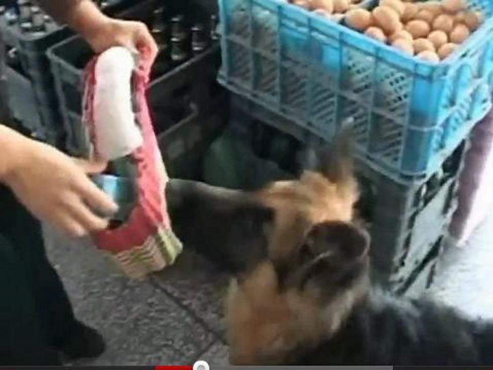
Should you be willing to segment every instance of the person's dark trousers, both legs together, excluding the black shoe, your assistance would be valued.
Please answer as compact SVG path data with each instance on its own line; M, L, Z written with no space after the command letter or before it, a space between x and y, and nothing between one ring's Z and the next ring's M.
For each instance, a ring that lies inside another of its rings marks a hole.
M59 364L77 324L39 221L0 185L0 365Z

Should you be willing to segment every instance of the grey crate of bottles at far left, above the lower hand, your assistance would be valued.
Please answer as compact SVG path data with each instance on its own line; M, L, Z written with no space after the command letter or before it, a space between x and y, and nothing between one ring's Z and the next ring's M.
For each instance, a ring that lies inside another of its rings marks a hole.
M62 131L57 126L60 119L45 51L67 37L68 28L45 17L30 3L19 1L13 7L0 8L0 32L5 46L12 118L33 137L58 144Z

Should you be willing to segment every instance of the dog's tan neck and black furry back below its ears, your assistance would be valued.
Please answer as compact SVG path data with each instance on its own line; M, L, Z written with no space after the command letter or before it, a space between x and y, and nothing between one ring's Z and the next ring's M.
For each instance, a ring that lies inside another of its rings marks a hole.
M431 301L367 290L367 283L362 281L359 293L345 292L323 309L299 293L269 295L273 286L233 287L228 306L231 363L492 363L493 325L470 321Z

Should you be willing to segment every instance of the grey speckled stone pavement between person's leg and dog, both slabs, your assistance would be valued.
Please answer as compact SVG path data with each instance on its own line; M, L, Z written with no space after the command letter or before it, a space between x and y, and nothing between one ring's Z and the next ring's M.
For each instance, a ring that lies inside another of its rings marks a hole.
M136 282L88 241L70 241L47 228L45 238L77 317L107 340L101 357L82 363L227 361L221 297L228 279L209 262L184 253L175 266Z

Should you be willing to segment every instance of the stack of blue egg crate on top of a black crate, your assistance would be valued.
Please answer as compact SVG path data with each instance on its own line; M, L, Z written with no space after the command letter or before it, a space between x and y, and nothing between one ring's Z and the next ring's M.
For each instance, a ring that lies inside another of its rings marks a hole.
M282 0L219 0L218 79L243 115L307 150L352 127L375 277L397 292L429 283L467 137L491 108L493 3L467 5L484 22L436 62L347 27L345 15Z

